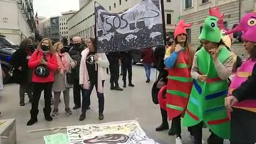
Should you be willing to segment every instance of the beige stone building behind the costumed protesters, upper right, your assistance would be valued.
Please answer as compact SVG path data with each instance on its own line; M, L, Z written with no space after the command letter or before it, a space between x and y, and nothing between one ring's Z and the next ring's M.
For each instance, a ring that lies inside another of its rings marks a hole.
M198 37L203 28L204 20L209 16L209 7L219 7L224 13L224 26L231 29L239 23L243 14L254 10L255 0L180 0L181 19L192 23L192 28L187 29L189 41L192 46L197 47L200 41Z

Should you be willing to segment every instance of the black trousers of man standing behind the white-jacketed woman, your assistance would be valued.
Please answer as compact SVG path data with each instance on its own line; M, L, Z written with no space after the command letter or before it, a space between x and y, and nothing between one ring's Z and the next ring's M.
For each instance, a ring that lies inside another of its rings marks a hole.
M81 107L81 92L82 92L82 97L85 95L85 89L82 88L81 85L79 85L79 80L74 80L73 83L73 98L74 98L74 103L75 106ZM91 98L88 99L89 106L91 104Z

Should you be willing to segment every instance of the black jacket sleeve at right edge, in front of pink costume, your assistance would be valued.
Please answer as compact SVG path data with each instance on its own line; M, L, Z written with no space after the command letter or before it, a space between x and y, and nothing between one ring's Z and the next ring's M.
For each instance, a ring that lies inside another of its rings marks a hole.
M234 97L237 98L237 100L243 101L248 99L256 99L255 95L255 89L256 88L256 64L254 65L254 68L252 70L252 76L248 77L248 79L242 83L239 88L235 89L233 91Z

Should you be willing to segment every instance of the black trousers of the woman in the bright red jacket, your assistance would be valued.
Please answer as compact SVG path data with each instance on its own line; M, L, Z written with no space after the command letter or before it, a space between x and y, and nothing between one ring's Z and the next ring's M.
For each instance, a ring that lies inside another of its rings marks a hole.
M50 97L52 95L52 84L53 82L47 83L34 83L33 101L31 104L31 119L37 119L38 115L38 103L41 97L41 92L44 91L44 116L50 116Z

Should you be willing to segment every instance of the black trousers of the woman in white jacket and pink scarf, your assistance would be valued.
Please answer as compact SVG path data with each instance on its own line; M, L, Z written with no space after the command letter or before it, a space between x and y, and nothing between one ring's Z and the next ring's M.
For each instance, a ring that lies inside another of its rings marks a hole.
M102 86L104 86L105 80L102 80ZM91 92L93 91L93 88L95 86L96 91L97 91L97 97L98 97L98 103L99 103L99 113L103 113L104 110L104 94L100 94L98 92L98 83L97 80L93 80L90 82L91 86L90 89L84 89L85 94L82 96L82 113L86 112L87 107L90 106L90 97L91 97Z

